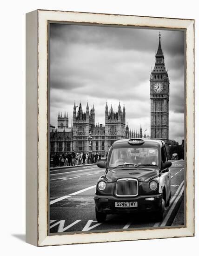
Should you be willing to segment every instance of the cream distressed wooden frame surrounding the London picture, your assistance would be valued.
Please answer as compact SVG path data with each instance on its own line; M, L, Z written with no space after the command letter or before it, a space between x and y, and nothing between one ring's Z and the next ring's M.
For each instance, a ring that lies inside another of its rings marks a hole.
M48 22L186 30L186 226L48 236ZM194 20L35 10L26 16L26 241L35 246L194 236Z

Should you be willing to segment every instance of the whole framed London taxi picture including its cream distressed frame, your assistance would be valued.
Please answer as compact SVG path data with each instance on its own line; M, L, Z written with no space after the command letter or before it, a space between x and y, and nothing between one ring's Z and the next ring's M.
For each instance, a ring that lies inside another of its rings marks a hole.
M26 15L26 241L194 236L194 20Z

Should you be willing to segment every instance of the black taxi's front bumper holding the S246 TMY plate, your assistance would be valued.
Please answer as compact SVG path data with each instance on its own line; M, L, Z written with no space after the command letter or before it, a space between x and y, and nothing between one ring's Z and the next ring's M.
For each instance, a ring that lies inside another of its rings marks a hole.
M158 195L139 195L135 197L116 197L114 195L95 195L95 206L98 212L106 214L121 214L132 212L155 212L161 208L163 194ZM148 201L147 198L154 198ZM137 207L118 208L115 202L137 202Z

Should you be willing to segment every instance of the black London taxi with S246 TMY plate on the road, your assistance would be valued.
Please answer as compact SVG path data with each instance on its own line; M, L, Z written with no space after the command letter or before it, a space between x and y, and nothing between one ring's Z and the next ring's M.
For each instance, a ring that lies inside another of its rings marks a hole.
M161 140L124 139L108 151L106 168L96 185L95 213L98 222L107 214L154 212L158 221L171 199L171 174L166 145Z

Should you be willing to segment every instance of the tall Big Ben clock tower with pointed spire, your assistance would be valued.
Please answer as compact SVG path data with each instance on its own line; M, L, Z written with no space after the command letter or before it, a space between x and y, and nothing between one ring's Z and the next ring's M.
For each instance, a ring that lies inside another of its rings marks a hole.
M150 77L151 138L165 141L169 152L169 77L165 68L159 33L155 67Z

